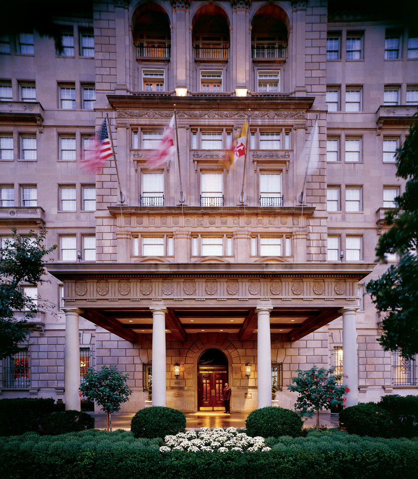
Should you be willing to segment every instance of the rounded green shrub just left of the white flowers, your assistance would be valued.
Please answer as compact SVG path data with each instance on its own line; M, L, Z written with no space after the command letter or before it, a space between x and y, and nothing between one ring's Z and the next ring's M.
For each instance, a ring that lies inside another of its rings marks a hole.
M183 432L186 416L171 407L152 406L138 411L132 418L131 431L135 438L163 438Z

